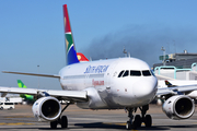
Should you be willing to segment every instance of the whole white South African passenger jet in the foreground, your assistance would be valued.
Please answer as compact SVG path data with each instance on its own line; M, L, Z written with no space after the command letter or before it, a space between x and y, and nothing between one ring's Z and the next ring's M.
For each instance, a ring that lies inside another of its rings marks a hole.
M38 97L32 110L38 121L49 121L50 128L68 127L67 116L62 112L71 104L83 109L125 109L129 120L126 129L137 129L144 122L152 126L148 115L149 104L157 95L172 95L163 104L163 110L171 119L182 120L193 116L194 100L181 93L197 90L187 87L158 88L158 80L147 62L131 57L79 62L73 43L67 4L63 4L65 38L67 66L58 74L39 74L3 71L3 73L48 76L59 79L62 91L18 88L0 86L1 96L8 93L28 94ZM61 108L60 100L67 104ZM134 116L139 109L141 115Z

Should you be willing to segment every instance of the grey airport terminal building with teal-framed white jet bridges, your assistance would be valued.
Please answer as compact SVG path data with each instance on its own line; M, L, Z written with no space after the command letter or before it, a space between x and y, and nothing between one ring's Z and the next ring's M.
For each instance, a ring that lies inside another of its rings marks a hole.
M154 73L172 80L197 80L197 53L160 56L163 63L153 64Z

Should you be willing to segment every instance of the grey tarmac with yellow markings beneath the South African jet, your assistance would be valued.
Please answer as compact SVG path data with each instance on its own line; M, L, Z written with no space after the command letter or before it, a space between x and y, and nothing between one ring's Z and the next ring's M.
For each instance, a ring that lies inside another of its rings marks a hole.
M136 114L140 114L137 111ZM136 115L135 114L135 115ZM152 116L152 127L141 128L136 131L196 131L197 114L187 120L171 120L162 111L162 106L150 105L148 111ZM68 129L56 130L69 131L126 131L127 112L119 110L90 110L80 109L70 105L63 112L68 117ZM13 110L0 110L0 130L7 131L48 131L51 130L49 122L38 122L32 112L32 106L15 105Z

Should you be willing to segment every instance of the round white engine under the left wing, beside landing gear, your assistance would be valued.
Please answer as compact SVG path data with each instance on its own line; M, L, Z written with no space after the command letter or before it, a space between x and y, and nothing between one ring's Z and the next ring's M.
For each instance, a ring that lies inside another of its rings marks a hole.
M61 105L55 97L42 97L34 103L32 110L38 121L54 121L61 115Z

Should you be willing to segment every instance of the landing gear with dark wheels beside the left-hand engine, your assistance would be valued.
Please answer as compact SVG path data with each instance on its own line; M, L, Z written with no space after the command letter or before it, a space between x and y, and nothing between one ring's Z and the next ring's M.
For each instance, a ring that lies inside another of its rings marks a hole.
M67 109L67 107L68 107L69 105L70 105L70 103L68 103L68 104L66 105L66 107L61 110L61 114L65 111L65 109ZM58 123L61 124L61 128L62 128L62 129L68 128L68 119L67 119L67 116L61 116L61 118L59 117L58 120L51 121L51 122L50 122L50 128L51 128L51 129L56 129Z

